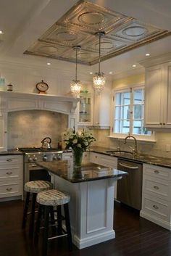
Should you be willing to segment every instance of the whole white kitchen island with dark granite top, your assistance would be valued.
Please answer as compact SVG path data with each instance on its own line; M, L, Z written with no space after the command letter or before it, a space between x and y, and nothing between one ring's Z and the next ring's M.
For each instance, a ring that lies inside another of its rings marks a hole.
M93 163L76 169L61 160L38 165L49 170L56 189L70 194L72 241L79 249L114 239L114 183L127 173Z

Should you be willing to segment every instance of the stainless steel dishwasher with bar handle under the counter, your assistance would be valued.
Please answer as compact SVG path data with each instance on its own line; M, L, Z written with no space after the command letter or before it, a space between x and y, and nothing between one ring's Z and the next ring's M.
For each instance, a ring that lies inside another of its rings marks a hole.
M117 168L128 173L117 181L117 200L141 210L143 165L118 158Z

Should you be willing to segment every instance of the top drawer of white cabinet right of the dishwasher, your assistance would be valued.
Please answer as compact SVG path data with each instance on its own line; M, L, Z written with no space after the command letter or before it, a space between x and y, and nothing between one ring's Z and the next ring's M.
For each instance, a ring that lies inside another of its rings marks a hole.
M143 174L171 181L171 169L143 164Z

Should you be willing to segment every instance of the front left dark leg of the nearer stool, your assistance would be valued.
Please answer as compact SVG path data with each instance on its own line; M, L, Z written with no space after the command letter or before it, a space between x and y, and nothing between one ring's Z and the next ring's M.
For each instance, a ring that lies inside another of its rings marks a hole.
M42 256L47 255L48 231L49 231L49 207L45 206L44 230L43 230L43 241L42 241Z

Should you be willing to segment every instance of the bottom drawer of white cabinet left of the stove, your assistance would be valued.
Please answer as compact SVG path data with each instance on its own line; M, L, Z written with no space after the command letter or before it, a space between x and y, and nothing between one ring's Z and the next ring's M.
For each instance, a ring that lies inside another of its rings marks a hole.
M22 184L20 181L0 183L0 198L22 195Z

